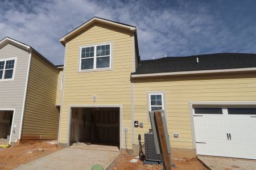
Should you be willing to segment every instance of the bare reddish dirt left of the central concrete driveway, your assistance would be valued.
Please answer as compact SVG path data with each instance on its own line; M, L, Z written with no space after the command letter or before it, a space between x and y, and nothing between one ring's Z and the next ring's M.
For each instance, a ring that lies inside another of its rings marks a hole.
M48 142L28 142L0 149L0 169L13 169L32 160L61 150Z

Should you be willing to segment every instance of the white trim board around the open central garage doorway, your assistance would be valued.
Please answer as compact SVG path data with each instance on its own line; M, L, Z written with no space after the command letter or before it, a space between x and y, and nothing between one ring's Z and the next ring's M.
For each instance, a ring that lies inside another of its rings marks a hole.
M69 105L68 106L68 128L67 128L67 147L70 146L70 133L71 133L71 108L119 108L119 149L121 151L123 145L123 105L115 104L85 104L85 105Z

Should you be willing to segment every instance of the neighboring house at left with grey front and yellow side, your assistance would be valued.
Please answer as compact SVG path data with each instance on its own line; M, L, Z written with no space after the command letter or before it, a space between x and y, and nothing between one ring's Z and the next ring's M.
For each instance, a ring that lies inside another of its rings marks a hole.
M9 143L57 139L59 69L31 46L0 41L0 138Z

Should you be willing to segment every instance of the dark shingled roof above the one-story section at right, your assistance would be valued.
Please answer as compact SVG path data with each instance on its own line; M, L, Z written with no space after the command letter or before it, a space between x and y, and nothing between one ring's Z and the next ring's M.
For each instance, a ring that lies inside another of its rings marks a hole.
M197 62L197 58L198 61ZM244 69L251 68L256 70L256 54L246 53L217 53L203 54L187 57L166 57L150 59L139 62L133 75L158 74L158 73L177 73L188 71L212 71L225 69ZM222 71L225 72L225 71ZM135 76L134 76L135 77Z

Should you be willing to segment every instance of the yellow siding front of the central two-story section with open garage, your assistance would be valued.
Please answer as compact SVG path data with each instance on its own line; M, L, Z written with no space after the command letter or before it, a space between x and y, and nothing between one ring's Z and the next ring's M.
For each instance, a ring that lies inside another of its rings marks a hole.
M122 126L129 128L127 147L131 148L131 82L133 71L132 33L96 23L65 44L64 94L60 143L67 143L69 105L122 105ZM111 42L113 70L77 73L80 46ZM97 95L93 103L92 96ZM122 129L120 129L122 131ZM123 134L123 147L125 134Z

